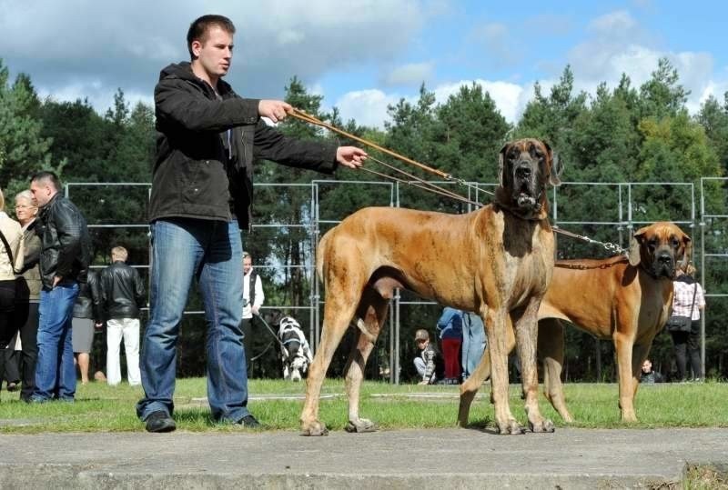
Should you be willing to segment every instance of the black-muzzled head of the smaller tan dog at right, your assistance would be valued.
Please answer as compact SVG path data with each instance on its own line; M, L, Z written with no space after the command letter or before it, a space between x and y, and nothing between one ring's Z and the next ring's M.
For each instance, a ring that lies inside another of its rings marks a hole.
M642 265L652 277L674 279L675 269L687 268L693 254L690 236L673 223L659 222L640 228L632 235L629 259Z

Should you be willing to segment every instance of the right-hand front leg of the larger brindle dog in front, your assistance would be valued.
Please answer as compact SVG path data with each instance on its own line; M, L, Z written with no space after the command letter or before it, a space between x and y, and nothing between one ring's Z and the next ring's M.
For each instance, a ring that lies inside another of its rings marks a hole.
M553 432L551 420L543 418L539 410L539 375L536 362L538 312L541 297L531 297L522 311L511 314L516 330L516 346L521 360L521 385L525 398L526 415L532 432Z

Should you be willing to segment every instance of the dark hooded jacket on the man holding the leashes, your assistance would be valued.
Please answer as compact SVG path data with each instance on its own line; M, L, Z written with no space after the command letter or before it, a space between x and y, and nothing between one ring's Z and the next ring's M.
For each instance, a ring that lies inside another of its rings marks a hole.
M336 169L336 145L284 136L260 120L257 99L239 97L222 80L217 91L220 98L189 63L169 65L159 74L149 221L229 221L236 215L248 227L256 159L329 174Z

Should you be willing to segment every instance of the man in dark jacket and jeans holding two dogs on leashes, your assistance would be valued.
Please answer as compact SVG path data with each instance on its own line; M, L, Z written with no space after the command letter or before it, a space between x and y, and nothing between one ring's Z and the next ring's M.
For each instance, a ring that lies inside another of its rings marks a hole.
M221 422L254 427L239 328L242 241L250 225L253 165L258 158L332 173L361 165L353 146L322 145L282 135L274 123L292 107L243 99L224 81L235 26L221 15L190 25L191 63L163 69L155 88L157 161L152 175L150 319L140 359L145 397L136 414L149 432L175 430L172 397L176 344L187 292L197 276L207 319L207 400Z

